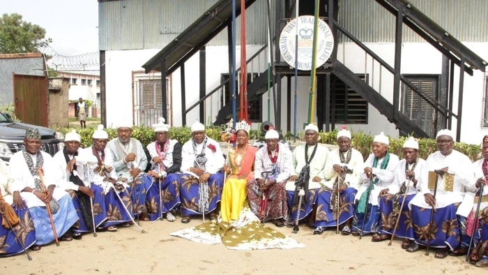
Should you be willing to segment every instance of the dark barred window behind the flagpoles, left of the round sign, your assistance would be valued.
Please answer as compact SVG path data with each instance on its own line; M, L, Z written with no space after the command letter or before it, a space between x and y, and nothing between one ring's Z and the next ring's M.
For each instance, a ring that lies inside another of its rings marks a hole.
M247 85L249 85L252 81L252 77L256 78L258 77L257 73L251 74L247 73ZM222 82L225 80L229 79L229 74L228 73L222 73ZM238 81L236 77L236 89L238 89ZM224 85L222 94L220 95L220 107L224 107L224 105L231 104L231 85L230 81L227 82L227 84ZM249 94L249 91L247 92ZM247 105L247 120L253 121L253 122L261 122L262 118L262 103L263 99L262 96L259 96L259 98L247 98L248 101L251 101L249 105Z

